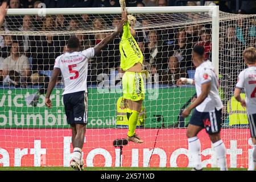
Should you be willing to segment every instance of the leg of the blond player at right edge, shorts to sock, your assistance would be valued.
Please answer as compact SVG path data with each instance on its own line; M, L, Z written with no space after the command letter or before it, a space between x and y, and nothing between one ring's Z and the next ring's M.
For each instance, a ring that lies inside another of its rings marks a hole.
M248 171L254 171L256 168L256 114L248 114L248 120L250 125L251 139L253 140L253 152L251 154L252 156Z

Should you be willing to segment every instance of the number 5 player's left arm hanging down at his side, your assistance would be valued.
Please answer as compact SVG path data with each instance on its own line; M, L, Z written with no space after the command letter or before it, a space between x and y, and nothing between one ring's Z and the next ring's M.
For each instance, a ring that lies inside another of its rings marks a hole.
M49 99L49 97L51 96L52 89L54 88L59 75L60 75L60 69L59 68L54 68L51 80L49 81L49 85L48 85L48 88L47 88L47 93L46 93L45 103L46 103L46 106L49 107L49 108L52 107L52 101Z

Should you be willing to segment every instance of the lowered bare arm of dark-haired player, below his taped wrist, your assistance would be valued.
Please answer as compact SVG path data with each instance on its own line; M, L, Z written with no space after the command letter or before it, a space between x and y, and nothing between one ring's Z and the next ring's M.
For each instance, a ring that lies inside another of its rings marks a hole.
M207 98L209 92L210 92L210 82L202 84L201 94L196 98L195 101L193 101L193 103L190 106L188 106L187 109L185 109L182 112L182 117L183 118L188 117L188 115L191 113L191 110L194 109L196 106L200 105L205 100L205 98Z

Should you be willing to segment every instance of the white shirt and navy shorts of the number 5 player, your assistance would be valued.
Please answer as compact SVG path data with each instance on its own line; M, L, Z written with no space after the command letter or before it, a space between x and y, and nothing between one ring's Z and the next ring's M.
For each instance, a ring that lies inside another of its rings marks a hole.
M94 56L94 48L81 52L67 52L55 60L64 82L63 102L69 124L87 123L87 73L88 62Z

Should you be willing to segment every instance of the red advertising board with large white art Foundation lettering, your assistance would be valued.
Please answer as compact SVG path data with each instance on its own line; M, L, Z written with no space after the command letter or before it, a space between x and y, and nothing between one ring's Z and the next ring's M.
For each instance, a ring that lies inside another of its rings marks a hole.
M126 129L88 129L83 148L87 167L119 167L119 148L113 140ZM123 167L189 167L185 129L139 129L143 144L123 147ZM223 129L228 166L247 167L252 152L249 129ZM216 154L205 131L199 134L204 167L216 167ZM150 160L156 139L154 155ZM69 129L0 129L0 166L68 166L71 160ZM150 164L149 164L150 161Z

